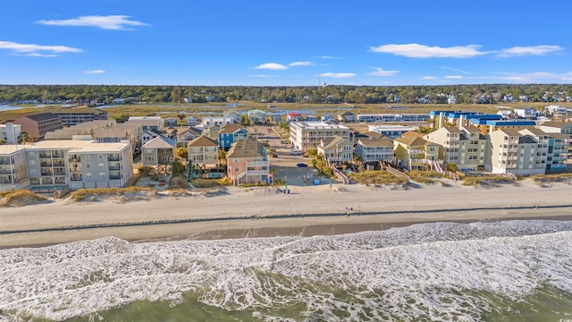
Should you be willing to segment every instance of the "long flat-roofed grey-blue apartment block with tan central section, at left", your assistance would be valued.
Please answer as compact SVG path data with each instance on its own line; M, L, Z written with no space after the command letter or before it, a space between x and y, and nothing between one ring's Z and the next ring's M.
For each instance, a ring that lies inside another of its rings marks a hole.
M133 176L129 141L45 140L25 151L32 190L122 187Z

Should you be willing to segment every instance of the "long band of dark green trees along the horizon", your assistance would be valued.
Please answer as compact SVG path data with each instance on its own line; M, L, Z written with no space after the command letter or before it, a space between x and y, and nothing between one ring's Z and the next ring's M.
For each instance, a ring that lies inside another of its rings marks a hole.
M478 84L440 86L130 86L130 85L0 85L0 103L25 101L41 103L71 101L80 104L112 104L114 98L127 103L193 103L208 101L254 101L263 103L349 103L349 104L414 104L423 97L425 103L445 104L450 96L457 103L494 103L512 95L529 102L552 101L559 95L572 94L570 84ZM477 97L485 97L485 101ZM548 97L548 99L546 98Z

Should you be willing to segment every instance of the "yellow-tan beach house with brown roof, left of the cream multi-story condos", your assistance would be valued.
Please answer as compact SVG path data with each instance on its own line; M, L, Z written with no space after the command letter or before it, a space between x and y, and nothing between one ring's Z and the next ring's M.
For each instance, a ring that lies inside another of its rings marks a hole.
M395 159L400 167L425 170L442 166L439 164L439 144L423 139L418 133L408 132L393 140Z

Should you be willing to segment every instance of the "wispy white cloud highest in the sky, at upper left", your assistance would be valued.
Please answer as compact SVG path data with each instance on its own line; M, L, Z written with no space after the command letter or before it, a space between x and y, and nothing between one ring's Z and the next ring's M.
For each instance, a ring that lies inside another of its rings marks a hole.
M131 30L128 26L149 26L141 21L129 20L128 15L81 16L68 20L36 21L48 26L96 27L104 30Z

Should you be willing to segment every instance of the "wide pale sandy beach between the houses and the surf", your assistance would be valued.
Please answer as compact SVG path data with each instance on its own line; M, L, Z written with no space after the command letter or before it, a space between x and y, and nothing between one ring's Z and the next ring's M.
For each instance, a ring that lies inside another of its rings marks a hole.
M438 221L572 216L572 186L534 182L492 187L459 182L406 186L334 183L276 188L222 187L186 195L75 202L0 210L0 248L105 236L129 241L313 235L379 230Z

